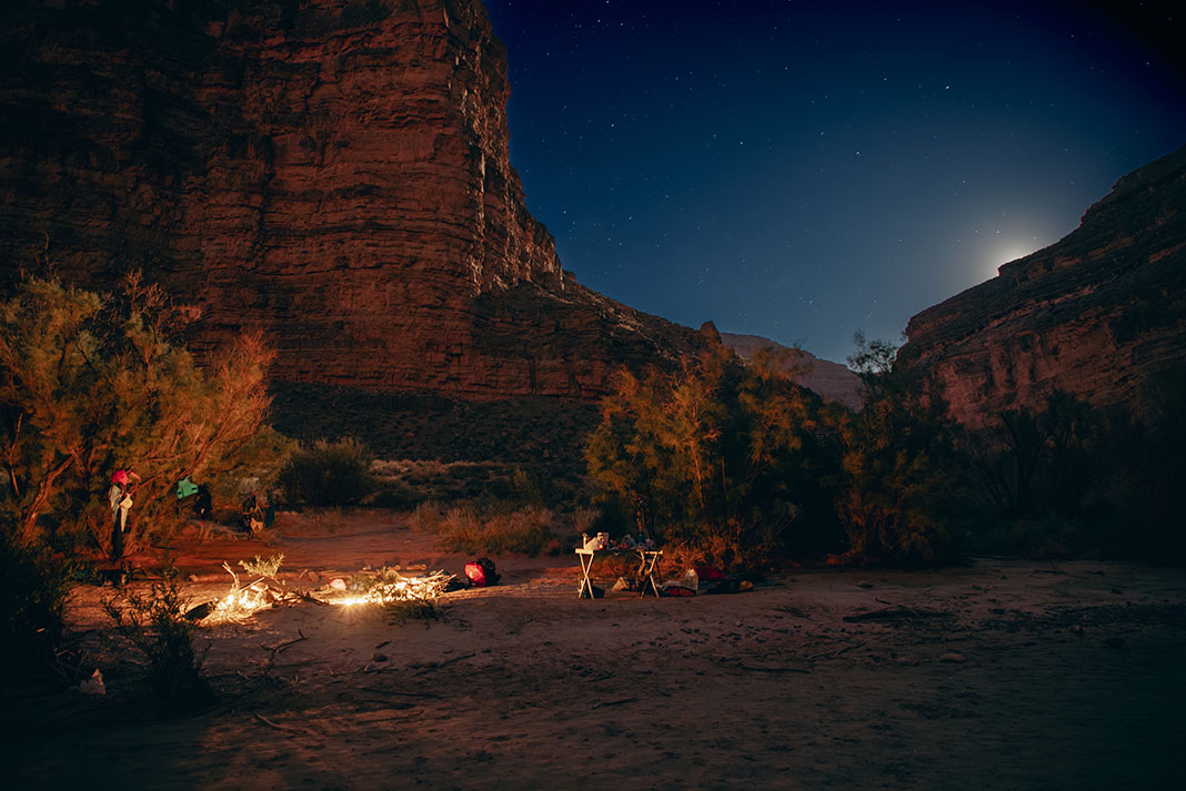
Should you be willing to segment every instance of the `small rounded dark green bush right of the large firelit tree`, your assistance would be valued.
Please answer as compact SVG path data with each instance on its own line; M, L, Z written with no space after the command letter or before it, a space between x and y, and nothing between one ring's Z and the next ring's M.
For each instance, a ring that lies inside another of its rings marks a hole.
M313 443L293 452L278 484L292 503L352 506L375 488L370 450L357 439Z

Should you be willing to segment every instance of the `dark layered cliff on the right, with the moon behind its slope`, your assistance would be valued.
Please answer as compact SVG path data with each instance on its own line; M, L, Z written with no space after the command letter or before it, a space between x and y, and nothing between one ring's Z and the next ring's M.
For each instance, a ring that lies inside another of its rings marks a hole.
M1056 388L1139 399L1186 367L1186 148L1116 182L1060 242L910 320L899 359L983 426Z

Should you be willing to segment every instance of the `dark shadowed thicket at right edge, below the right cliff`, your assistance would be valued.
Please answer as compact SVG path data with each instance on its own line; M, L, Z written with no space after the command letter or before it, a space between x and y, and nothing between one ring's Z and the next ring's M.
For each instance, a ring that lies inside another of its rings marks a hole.
M995 516L980 548L1181 564L1184 397L1186 378L1167 373L1107 410L1054 392L1039 409L995 416L970 443L982 504Z

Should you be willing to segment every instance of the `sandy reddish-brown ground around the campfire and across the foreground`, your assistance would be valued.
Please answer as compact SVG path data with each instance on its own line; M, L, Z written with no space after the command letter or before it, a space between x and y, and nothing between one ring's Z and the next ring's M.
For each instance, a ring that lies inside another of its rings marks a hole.
M465 560L390 514L286 516L267 542L181 549L196 602L225 590L222 560L278 551L326 575ZM591 602L575 558L496 560L502 585L448 594L428 626L301 604L204 629L218 701L172 719L108 634L111 591L81 587L74 644L107 695L7 693L5 785L1181 787L1182 571L980 559Z

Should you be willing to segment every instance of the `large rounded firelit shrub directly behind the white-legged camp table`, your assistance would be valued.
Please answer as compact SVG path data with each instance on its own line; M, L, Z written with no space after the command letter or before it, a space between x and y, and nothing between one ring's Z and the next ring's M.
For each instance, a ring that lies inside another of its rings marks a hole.
M710 549L721 567L825 545L836 530L831 407L772 353L742 365L721 346L675 372L620 372L589 435L607 512L665 545Z

